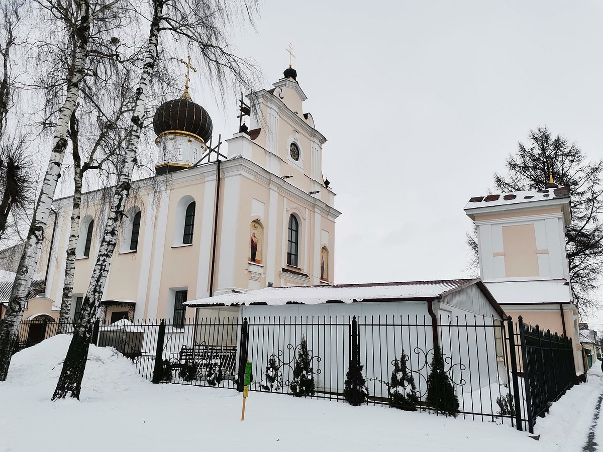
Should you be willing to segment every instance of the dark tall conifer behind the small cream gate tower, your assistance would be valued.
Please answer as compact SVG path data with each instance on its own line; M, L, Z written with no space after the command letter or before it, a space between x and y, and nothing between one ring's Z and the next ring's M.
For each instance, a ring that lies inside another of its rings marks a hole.
M569 186L572 223L566 225L566 249L572 293L579 307L599 306L593 292L603 269L603 160L589 161L563 135L553 137L546 127L528 134L506 162L507 174L494 174L496 190L517 192L544 189L552 174L555 184ZM467 234L473 268L478 268L475 230Z

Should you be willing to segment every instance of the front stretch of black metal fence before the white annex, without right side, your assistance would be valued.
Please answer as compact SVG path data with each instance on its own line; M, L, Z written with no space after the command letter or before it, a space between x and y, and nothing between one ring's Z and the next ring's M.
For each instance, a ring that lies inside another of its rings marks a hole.
M513 413L497 403L512 397L505 326L484 316L440 318L435 328L424 316L208 318L177 325L147 320L101 325L98 345L117 348L155 383L242 390L249 360L250 390L281 394L298 392L305 361L313 381L309 397L352 404L359 404L361 387L368 403L391 404L392 374L404 363L414 380L416 409L447 415L428 400L434 334L443 355L441 372L458 398L457 415L515 425ZM346 395L348 372L364 383L348 375Z

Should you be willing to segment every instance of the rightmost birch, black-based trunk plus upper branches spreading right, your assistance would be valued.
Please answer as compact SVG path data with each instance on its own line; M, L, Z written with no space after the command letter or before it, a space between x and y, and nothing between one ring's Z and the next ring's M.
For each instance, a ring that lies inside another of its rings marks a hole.
M168 34L166 39L186 42L192 53L201 57L207 77L212 78L212 83L217 84L221 92L225 89L227 81L233 80L249 86L253 77L253 66L230 51L227 32L234 21L240 17L245 17L253 23L253 14L257 7L254 0L232 2L232 4L223 0L151 0L149 4L150 27L147 48L142 74L134 96L134 111L123 165L118 175L80 318L74 328L74 335L52 400L65 398L67 395L80 398L81 380L86 369L90 345L90 327L100 306L118 230L124 216L125 202L130 193L140 134L147 115L148 93L156 76L160 36Z

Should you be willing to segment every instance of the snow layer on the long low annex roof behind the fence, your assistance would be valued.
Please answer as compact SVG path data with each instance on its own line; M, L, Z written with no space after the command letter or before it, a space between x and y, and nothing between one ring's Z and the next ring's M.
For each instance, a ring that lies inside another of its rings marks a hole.
M399 283L333 284L331 286L268 287L250 292L225 293L217 297L186 301L187 306L251 306L267 304L323 304L341 301L425 300L440 298L449 292L479 280L405 281Z

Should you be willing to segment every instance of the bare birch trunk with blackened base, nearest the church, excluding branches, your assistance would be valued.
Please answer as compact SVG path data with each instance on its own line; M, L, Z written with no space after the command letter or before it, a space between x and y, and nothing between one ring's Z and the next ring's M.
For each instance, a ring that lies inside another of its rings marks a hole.
M124 216L125 202L130 194L132 172L136 163L136 154L140 142L140 132L145 121L147 110L147 95L150 89L155 60L157 58L157 44L159 42L160 20L163 10L163 0L153 2L153 19L147 42L145 63L142 67L142 75L138 88L136 89L136 101L132 114L132 125L125 149L121 172L115 187L115 193L111 202L111 209L105 224L103 239L99 245L98 257L90 278L90 285L82 309L80 319L74 329L74 335L69 345L61 375L58 378L57 388L52 395L52 400L71 397L80 399L81 380L86 369L86 359L90 346L92 334L92 321L96 317L100 306L103 289L109 273L111 258L117 242L118 230Z

